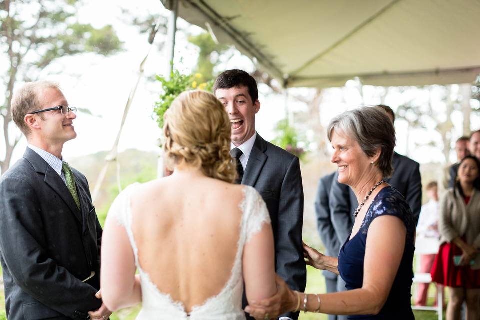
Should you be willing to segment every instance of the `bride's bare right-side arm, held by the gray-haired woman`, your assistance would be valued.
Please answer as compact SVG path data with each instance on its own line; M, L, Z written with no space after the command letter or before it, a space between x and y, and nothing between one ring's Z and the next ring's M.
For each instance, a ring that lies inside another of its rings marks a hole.
M274 251L271 224L263 223L243 249L243 279L249 302L276 293Z

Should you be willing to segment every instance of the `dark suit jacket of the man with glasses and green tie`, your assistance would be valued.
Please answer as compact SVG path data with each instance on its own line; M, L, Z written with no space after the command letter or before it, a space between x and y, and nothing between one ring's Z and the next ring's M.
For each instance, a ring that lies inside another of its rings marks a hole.
M101 227L88 182L72 168L81 212L35 151L0 181L0 260L8 320L86 319L101 306ZM87 282L82 282L96 274Z

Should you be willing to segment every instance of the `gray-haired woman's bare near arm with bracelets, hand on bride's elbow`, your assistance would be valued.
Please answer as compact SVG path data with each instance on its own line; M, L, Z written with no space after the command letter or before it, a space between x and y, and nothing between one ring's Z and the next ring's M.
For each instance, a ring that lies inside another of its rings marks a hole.
M385 239L388 239L386 241ZM363 286L360 289L307 296L307 310L328 314L377 314L388 298L400 265L406 243L406 227L394 216L375 218L368 229L363 264ZM331 263L330 263L331 264ZM278 312L293 311L298 297L281 279L277 280L278 293L268 299L251 301L245 309L261 319L274 317ZM304 294L300 294L300 309ZM280 305L280 306L279 306Z

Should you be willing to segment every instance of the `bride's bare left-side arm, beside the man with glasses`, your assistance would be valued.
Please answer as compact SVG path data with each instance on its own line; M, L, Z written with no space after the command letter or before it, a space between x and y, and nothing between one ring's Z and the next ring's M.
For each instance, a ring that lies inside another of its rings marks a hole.
M101 292L111 311L141 301L140 278L135 275L135 257L125 228L108 216L101 245Z

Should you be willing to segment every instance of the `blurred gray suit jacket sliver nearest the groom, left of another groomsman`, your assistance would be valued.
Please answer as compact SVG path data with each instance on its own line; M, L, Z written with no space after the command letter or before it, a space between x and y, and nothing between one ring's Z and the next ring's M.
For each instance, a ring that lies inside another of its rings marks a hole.
M315 198L316 225L318 228L318 233L320 234L320 239L326 249L325 253L328 256L338 256L341 245L338 237L336 236L333 222L331 221L329 205L331 183L335 177L335 174L336 172L333 172L320 179ZM326 270L323 271L323 275L329 279L337 278L335 273Z

